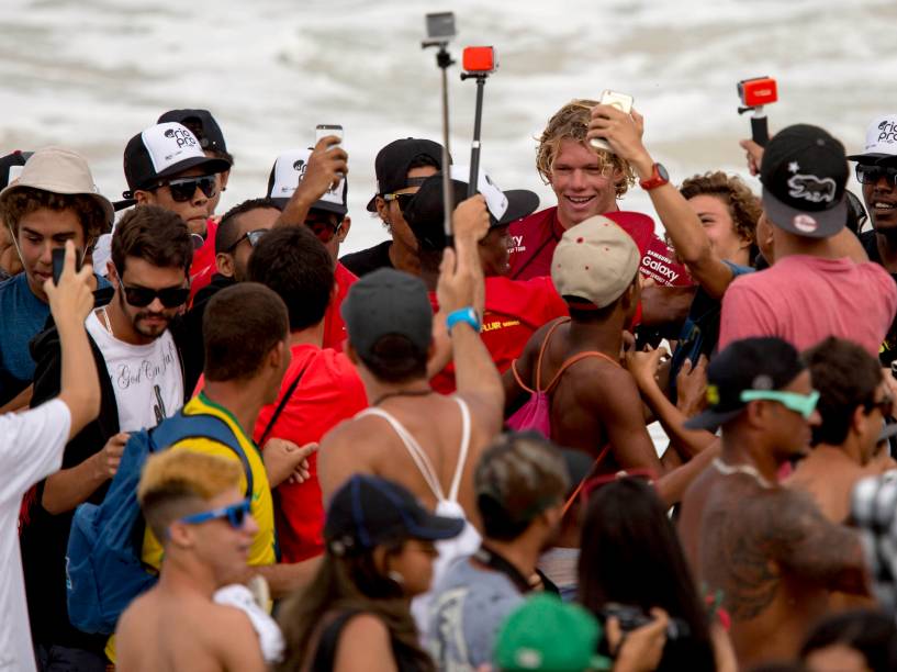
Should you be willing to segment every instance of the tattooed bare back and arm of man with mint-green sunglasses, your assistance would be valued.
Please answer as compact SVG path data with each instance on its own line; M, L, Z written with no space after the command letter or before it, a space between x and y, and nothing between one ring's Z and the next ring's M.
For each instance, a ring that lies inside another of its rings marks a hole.
M867 591L862 548L805 493L707 469L683 501L680 534L698 584L732 619L739 664L793 658L829 590Z

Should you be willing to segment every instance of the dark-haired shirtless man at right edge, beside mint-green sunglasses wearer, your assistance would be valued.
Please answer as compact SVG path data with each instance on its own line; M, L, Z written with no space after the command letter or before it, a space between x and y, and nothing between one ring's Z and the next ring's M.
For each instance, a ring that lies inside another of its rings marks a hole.
M843 523L856 481L897 468L887 450L876 451L894 399L878 361L850 340L827 338L804 359L822 422L812 429L814 449L785 483L809 493L829 520Z

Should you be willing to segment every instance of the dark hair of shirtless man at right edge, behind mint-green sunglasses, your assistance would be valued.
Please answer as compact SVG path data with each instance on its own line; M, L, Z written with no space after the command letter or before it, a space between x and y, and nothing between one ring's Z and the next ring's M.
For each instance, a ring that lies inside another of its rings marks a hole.
M882 384L882 365L865 349L829 336L804 352L812 387L819 391L822 423L812 427L812 443L840 446L848 438L856 406L873 404Z

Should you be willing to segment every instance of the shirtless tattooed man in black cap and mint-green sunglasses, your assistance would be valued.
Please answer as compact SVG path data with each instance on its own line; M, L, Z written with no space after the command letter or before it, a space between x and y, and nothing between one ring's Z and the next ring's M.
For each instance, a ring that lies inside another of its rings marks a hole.
M708 368L707 411L686 427L722 427L722 453L685 494L680 533L699 584L722 596L739 665L791 659L828 591L866 594L859 536L811 497L782 488L819 424L810 372L780 338L735 341Z

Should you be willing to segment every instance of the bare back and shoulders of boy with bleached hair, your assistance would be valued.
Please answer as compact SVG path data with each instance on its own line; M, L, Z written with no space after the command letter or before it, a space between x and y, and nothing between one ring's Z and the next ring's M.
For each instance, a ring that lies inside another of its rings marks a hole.
M115 635L121 672L266 670L249 618L190 590L152 589L124 613Z

